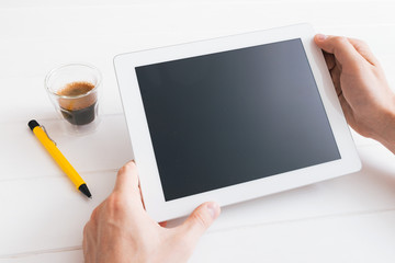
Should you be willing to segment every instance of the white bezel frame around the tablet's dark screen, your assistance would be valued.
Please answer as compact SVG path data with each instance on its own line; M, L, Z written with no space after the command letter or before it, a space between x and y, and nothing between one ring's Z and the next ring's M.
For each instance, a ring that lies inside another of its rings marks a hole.
M313 37L314 30L311 25L297 24L121 54L114 58L126 123L138 168L142 194L145 207L155 220L163 221L185 216L207 201L215 201L221 206L225 206L356 172L361 168L324 56L315 45ZM301 38L303 43L341 159L166 202L135 67L294 38Z

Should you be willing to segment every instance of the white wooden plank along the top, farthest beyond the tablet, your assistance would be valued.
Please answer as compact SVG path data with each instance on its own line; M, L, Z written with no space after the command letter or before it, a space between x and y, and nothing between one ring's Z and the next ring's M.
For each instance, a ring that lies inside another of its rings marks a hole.
M286 5L286 8L284 7ZM320 1L271 1L224 4L221 2L167 2L123 7L29 7L3 9L1 36L81 36L124 35L134 32L196 28L241 28L247 24L261 27L311 21L317 25L372 25L394 23L393 2L342 2L325 4ZM330 14L330 15L327 15ZM20 20L20 18L41 18ZM89 16L89 20L86 18ZM70 19L72 18L72 19ZM153 19L155 18L155 19ZM221 18L221 19L218 19ZM336 18L336 19L335 19ZM5 26L15 22L12 27ZM83 21L83 23L81 23ZM144 23L143 23L144 21ZM160 21L160 23L158 23ZM182 23L180 23L182 21ZM213 23L215 22L215 23ZM114 26L116 25L116 26ZM136 39L137 41L137 39Z

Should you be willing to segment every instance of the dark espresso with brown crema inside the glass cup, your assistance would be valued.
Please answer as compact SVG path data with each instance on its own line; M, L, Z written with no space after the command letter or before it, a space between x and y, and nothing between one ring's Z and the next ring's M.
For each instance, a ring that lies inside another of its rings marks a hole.
M66 84L57 94L61 115L70 124L84 125L93 122L95 117L97 92L94 84L86 81L76 81Z

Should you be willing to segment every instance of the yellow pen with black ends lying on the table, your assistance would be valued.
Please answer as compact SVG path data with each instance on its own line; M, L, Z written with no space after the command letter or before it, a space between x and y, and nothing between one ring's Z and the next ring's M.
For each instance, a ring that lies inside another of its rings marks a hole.
M45 149L49 152L49 155L54 158L60 169L67 174L67 176L71 180L71 182L76 185L76 187L81 191L82 194L91 198L91 193L89 188L78 174L76 169L71 167L71 164L67 161L67 159L61 155L59 149L56 147L55 142L49 139L46 132L42 128L42 126L35 121L32 119L29 122L29 127L33 130L34 135L42 142Z

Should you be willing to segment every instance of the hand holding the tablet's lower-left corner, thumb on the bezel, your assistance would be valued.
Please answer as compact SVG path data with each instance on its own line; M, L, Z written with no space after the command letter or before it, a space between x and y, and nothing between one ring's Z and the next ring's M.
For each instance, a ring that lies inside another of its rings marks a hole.
M161 227L145 211L136 164L128 162L119 171L113 193L83 229L86 263L187 262L219 213L216 203L204 203L183 225Z

